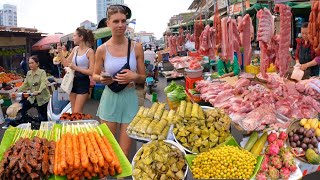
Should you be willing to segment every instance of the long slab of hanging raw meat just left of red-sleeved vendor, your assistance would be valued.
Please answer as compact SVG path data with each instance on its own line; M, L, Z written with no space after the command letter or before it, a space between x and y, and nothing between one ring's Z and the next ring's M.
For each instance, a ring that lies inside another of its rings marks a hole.
M289 54L291 40L291 9L285 4L276 4L275 12L280 13L280 40L279 40L279 57L275 63L280 76L283 77L289 69L291 56Z

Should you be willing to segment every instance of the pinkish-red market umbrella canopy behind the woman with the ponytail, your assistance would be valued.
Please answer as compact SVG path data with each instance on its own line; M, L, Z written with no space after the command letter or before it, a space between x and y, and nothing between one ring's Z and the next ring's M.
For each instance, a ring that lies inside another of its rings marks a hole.
M63 34L53 34L46 36L40 39L32 46L33 51L42 51L42 50L49 50L50 44L56 44L60 42L60 38L64 36Z

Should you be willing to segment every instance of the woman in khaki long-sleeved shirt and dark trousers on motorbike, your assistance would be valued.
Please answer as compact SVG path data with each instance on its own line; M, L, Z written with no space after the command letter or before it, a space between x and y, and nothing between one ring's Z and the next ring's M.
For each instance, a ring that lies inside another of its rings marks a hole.
M39 59L37 56L31 56L29 58L29 69L24 83L18 89L18 92L30 90L33 96L28 97L27 100L23 100L22 109L20 110L22 115L21 120L26 120L27 111L32 107L36 107L40 115L38 120L47 121L47 106L50 99L50 92L47 86L47 74L39 68Z

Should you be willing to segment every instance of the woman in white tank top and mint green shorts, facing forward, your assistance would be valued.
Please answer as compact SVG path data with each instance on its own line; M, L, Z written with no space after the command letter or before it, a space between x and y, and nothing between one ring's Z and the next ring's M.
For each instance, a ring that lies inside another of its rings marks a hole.
M138 97L135 84L145 81L145 66L143 49L140 43L129 41L125 37L127 19L130 19L131 10L123 5L111 5L107 9L107 24L111 29L112 37L98 47L94 68L94 80L107 85L101 96L97 116L102 123L106 123L115 135L120 125L119 144L128 157L131 139L126 129L138 111ZM130 46L129 46L130 44ZM128 57L128 48L130 55ZM130 69L123 69L129 60ZM105 72L102 74L102 67ZM121 70L121 74L117 73ZM127 84L120 92L109 88L112 83Z

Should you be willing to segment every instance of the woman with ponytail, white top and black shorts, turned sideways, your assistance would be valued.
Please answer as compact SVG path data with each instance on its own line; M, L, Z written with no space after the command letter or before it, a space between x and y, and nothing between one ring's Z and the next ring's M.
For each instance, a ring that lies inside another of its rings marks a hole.
M90 30L77 28L73 33L73 41L76 46L68 58L64 57L60 43L58 43L59 56L65 67L75 71L73 87L70 93L70 102L73 113L82 113L83 107L88 99L90 78L94 68L94 51L91 48L94 44L94 37Z

